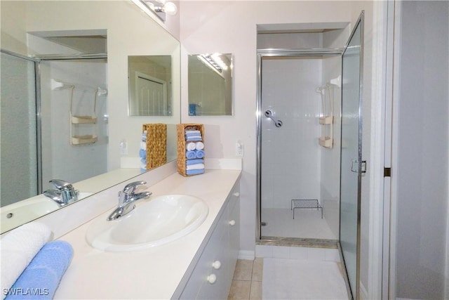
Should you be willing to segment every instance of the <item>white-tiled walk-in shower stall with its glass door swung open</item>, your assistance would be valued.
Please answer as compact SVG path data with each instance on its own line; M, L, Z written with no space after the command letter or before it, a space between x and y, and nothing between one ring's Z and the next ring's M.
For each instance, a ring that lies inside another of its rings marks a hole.
M309 25L257 28L257 243L340 249L358 299L363 12Z

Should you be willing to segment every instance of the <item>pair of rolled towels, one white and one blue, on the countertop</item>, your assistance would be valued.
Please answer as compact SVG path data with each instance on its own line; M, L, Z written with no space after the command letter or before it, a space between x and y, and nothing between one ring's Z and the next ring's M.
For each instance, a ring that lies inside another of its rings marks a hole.
M27 223L1 238L1 292L6 299L52 299L73 256L65 241L48 242L51 230Z

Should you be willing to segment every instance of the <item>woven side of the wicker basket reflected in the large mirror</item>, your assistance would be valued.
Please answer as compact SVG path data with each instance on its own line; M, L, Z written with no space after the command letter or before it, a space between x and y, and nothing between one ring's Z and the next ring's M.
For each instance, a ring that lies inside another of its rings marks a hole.
M147 131L147 170L167 162L167 125L143 124L142 133Z

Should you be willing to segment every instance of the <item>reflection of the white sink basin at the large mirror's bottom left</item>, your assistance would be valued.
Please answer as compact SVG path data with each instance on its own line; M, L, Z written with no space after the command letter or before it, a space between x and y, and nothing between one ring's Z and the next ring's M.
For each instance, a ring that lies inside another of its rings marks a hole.
M92 195L92 193L80 193L79 200ZM51 211L59 209L55 201L44 195L37 195L0 208L1 232L21 226L44 216Z

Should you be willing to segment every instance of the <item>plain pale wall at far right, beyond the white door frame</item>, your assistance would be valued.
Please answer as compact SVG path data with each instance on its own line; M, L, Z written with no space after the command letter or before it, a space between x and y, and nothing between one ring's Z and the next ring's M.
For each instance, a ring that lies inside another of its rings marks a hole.
M401 5L391 178L399 298L447 299L448 15L447 1Z

